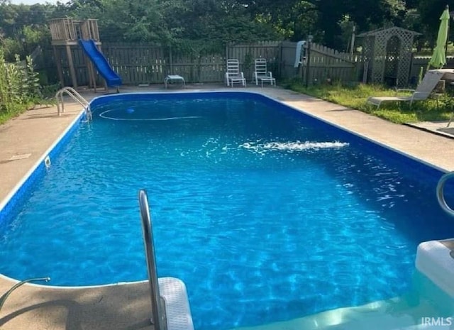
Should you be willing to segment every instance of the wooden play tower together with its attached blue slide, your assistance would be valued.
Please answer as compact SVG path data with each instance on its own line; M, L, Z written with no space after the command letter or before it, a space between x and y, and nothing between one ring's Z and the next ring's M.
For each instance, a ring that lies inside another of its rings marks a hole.
M62 56L59 48L65 48L67 65L70 70L72 87L77 88L77 76L72 58L72 47L82 47L89 73L89 87L96 92L96 70L104 78L104 87L118 87L121 85L121 77L112 69L106 57L101 53L101 41L99 39L98 21L87 19L77 21L72 18L55 18L49 21L50 34L52 35L52 48L57 64L58 78L65 86Z

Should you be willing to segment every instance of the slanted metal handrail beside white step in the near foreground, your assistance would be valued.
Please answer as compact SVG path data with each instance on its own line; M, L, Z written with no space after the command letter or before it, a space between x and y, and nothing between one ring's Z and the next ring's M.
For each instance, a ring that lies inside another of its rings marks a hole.
M143 243L145 243L145 257L147 260L148 282L150 282L150 296L152 318L151 323L156 330L165 330L165 309L161 304L159 285L157 282L155 247L153 244L153 231L151 227L150 208L148 207L148 197L145 189L140 189L139 194L140 218L142 219Z

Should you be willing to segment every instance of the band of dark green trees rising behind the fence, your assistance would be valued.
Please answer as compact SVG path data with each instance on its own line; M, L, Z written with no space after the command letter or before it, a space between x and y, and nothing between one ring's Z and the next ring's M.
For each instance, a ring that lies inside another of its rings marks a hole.
M317 43L341 50L355 25L358 33L387 26L416 30L423 33L422 47L435 40L438 18L450 2L454 0L70 0L27 6L0 0L0 38L5 57L11 59L24 48L21 40L28 52L48 42L50 18L68 16L98 19L105 41L210 48L314 35ZM26 52L23 49L21 55Z

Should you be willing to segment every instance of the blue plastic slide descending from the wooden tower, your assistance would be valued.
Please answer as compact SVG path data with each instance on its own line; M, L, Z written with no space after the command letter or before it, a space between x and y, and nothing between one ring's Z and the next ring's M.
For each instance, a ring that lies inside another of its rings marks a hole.
M93 62L99 74L106 79L107 86L118 87L121 85L121 77L112 69L106 57L99 51L92 39L79 39L79 45L84 50L85 54Z

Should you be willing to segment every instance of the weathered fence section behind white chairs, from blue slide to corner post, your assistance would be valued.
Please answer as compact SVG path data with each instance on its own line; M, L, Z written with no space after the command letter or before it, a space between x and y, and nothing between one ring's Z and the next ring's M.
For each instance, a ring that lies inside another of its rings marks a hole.
M200 55L153 44L104 43L102 50L125 84L162 83L170 74L181 75L187 82L223 82L227 58L238 58L250 79L255 58L266 58L270 70L275 69L279 42L228 45L226 53Z

